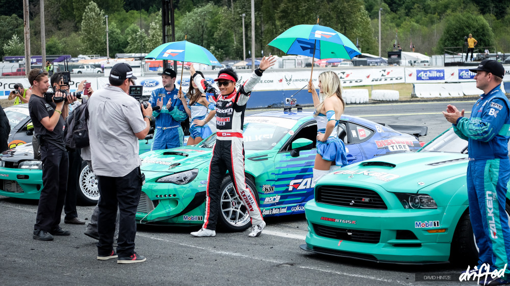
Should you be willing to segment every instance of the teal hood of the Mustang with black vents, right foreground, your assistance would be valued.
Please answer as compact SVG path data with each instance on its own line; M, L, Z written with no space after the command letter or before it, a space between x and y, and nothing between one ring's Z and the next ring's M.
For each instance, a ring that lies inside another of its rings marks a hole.
M324 176L318 185L376 184L390 192L414 193L443 180L465 175L467 166L467 154L394 154L342 167Z

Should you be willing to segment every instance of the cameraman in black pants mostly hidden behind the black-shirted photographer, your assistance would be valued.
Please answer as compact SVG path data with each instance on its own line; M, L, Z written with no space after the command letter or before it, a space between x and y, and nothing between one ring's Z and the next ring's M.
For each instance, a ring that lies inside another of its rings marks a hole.
M83 83L82 81L78 85L77 93L81 93L83 91ZM51 78L52 88L54 91L67 93L69 91L69 83L64 81L64 74L54 73ZM68 105L68 113L72 112L72 107L74 105L81 104L79 101L74 101L73 103ZM68 169L68 178L67 178L67 188L66 195L64 201L64 223L72 223L72 224L85 224L85 221L80 220L78 218L78 212L76 210L76 197L77 197L77 185L78 185L78 177L80 174L80 169L82 167L82 160L80 157L80 149L73 150L66 148L68 151L68 159L69 159L69 169Z

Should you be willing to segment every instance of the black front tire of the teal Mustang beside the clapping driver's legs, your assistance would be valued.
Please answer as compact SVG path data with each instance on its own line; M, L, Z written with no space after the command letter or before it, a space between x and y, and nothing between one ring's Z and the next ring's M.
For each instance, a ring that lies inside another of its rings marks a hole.
M506 215L510 214L510 206L505 204ZM469 210L466 210L457 223L450 248L450 262L458 266L477 265L478 247L476 246Z

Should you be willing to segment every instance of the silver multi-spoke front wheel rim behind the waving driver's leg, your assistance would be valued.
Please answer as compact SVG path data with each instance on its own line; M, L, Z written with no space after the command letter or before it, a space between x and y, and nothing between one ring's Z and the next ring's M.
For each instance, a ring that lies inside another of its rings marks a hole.
M251 191L251 189L248 187ZM248 209L237 195L234 184L228 184L221 194L221 214L225 221L232 226L243 226L250 221Z

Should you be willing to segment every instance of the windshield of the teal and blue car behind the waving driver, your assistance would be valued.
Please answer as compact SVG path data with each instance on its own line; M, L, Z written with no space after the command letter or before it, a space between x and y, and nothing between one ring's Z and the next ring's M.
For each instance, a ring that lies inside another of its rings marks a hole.
M287 124L282 124L287 125ZM244 125L243 138L245 150L269 150L291 130L275 123L248 122ZM197 147L212 148L216 143L216 135L209 136Z

